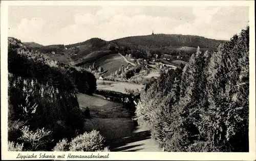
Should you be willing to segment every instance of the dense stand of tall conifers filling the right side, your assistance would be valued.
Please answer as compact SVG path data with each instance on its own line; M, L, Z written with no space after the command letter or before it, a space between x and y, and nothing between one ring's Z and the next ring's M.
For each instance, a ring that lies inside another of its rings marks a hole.
M165 151L248 152L249 28L146 84L139 124Z

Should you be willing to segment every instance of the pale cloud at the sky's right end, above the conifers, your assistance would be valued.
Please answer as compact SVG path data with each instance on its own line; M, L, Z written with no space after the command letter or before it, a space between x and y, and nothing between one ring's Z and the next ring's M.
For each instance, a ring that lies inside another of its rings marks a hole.
M179 25L180 34L199 35L213 39L229 40L246 28L249 20L248 7L203 7L194 8L194 23Z

